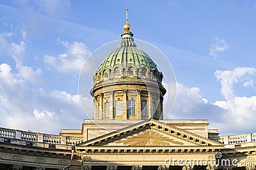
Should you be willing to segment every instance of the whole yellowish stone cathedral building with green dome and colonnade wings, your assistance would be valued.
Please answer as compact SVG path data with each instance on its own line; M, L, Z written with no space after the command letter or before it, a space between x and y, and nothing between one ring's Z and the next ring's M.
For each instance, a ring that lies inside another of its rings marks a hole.
M255 169L256 133L163 120L163 74L129 29L93 75L94 119L60 135L0 128L0 169Z

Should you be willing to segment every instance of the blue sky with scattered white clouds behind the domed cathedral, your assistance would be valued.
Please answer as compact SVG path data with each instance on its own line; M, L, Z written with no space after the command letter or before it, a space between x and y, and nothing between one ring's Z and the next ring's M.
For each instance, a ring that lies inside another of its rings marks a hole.
M254 0L0 0L0 127L81 129L81 67L120 39L125 6L134 39L157 46L172 64L177 98L168 119L208 120L221 135L256 132ZM84 88L92 87L89 78Z

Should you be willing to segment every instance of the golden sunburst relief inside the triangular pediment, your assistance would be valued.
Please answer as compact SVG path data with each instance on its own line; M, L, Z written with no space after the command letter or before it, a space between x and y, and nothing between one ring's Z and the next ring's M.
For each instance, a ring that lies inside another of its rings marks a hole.
M141 132L137 136L128 137L124 141L116 141L116 143L124 143L124 145L129 146L161 146L170 145L170 143L176 145L184 145L184 143L179 141L173 141L173 139L164 137L158 132L152 131L152 129Z

